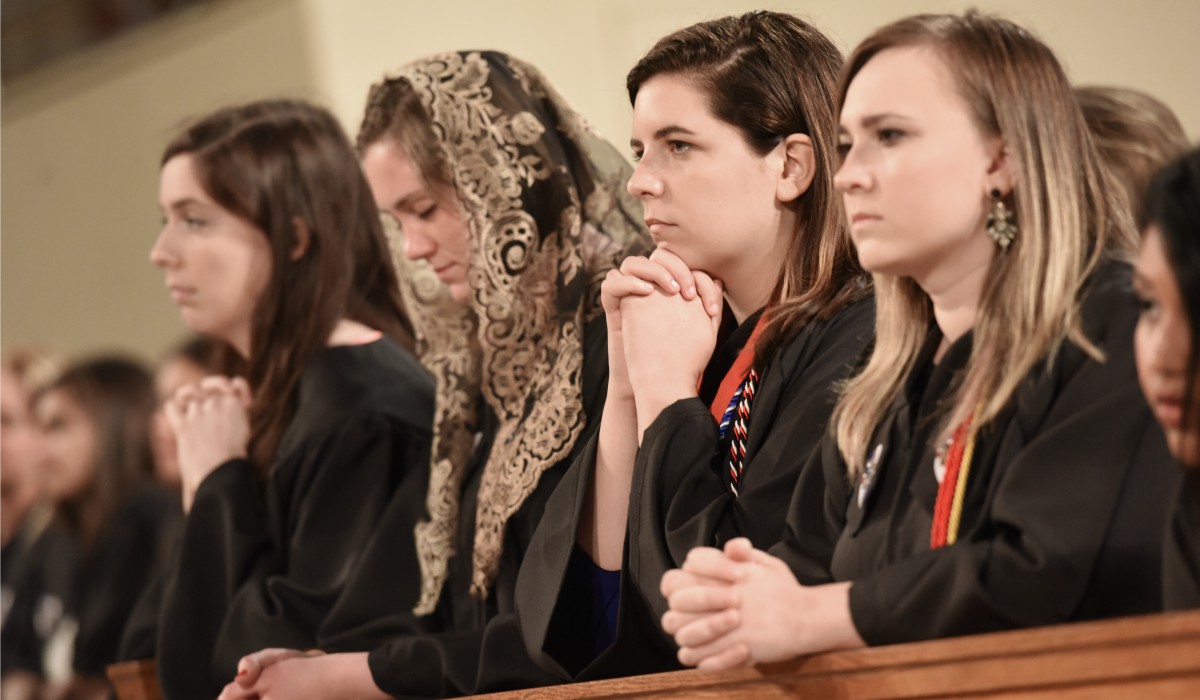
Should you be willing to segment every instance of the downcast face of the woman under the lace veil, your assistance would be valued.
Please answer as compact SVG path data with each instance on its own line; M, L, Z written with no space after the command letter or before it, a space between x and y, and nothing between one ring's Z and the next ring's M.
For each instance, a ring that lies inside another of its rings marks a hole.
M376 207L403 232L404 256L428 263L450 295L456 301L467 301L470 247L457 196L450 190L438 192L427 187L404 149L390 139L366 149L362 172L371 184Z

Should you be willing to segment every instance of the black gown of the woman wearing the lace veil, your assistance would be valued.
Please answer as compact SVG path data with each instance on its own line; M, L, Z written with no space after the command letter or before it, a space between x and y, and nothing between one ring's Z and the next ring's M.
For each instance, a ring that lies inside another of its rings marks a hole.
M607 335L602 317L583 333L583 409L587 425L571 454L547 469L538 487L509 519L504 550L486 600L470 596L475 503L482 466L491 448L494 419L486 415L460 501L456 554L450 560L437 610L412 614L420 592L413 544L413 514L389 508L364 556L347 604L322 636L326 651L370 651L376 684L403 698L444 698L544 686L554 682L529 660L512 615L517 570L546 502L566 467L595 433L608 382ZM347 622L352 621L352 622Z

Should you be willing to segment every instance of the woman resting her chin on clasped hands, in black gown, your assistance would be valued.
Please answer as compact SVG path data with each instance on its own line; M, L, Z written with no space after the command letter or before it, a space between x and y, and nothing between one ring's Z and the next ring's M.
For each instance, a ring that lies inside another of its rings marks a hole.
M604 285L599 436L518 584L527 645L560 678L677 668L656 629L662 574L694 546L782 534L871 337L833 187L840 67L811 25L754 12L668 35L629 73L629 191L658 249Z

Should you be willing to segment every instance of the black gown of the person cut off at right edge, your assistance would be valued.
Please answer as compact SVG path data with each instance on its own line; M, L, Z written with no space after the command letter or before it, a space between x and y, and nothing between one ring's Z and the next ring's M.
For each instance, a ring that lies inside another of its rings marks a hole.
M1183 471L1163 546L1163 606L1200 608L1200 469Z

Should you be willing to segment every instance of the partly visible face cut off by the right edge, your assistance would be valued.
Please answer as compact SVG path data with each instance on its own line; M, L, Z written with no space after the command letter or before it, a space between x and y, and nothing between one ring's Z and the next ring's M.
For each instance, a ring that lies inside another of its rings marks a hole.
M1141 306L1134 331L1141 390L1175 459L1200 467L1200 377L1188 373L1194 339L1163 237L1153 226L1142 237L1133 285Z

